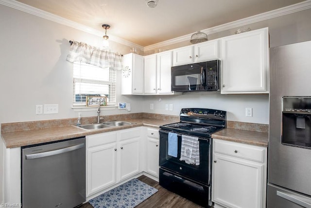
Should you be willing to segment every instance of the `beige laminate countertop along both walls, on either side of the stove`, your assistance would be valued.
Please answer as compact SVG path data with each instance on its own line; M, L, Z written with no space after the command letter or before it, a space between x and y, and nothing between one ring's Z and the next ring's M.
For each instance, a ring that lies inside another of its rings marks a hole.
M44 128L27 131L4 132L1 133L1 137L6 145L6 148L16 148L45 142L59 141L63 139L86 136L96 133L129 129L139 126L159 128L159 126L161 125L174 123L171 120L161 120L154 118L133 118L133 119L124 119L123 121L127 121L132 124L128 126L111 127L92 131L83 130L75 126L63 126L63 127ZM268 133L266 132L224 129L220 132L212 134L212 137L215 139L223 139L257 146L265 146L265 147L268 146Z

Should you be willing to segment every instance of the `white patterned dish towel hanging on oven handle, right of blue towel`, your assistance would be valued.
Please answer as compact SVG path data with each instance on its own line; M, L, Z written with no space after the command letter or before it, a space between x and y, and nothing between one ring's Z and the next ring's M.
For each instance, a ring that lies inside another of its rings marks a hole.
M180 160L187 164L200 165L199 138L195 136L181 135Z

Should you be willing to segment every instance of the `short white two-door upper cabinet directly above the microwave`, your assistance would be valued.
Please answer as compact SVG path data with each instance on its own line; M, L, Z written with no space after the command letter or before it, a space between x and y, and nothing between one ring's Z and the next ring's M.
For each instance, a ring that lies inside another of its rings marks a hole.
M210 40L173 50L173 66L219 58L219 40Z

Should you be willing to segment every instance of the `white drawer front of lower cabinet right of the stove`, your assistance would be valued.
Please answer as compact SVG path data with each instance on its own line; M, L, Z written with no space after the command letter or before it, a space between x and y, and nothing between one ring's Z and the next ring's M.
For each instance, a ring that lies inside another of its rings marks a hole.
M260 163L264 162L265 148L263 147L213 139L213 149L214 152L253 160Z

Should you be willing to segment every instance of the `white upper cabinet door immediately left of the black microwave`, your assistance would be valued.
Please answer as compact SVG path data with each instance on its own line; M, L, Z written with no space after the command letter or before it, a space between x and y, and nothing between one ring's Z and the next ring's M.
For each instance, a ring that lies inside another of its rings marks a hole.
M163 52L157 54L157 93L172 94L171 91L171 67L172 67L172 52Z

